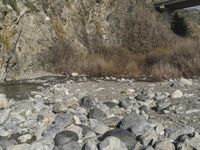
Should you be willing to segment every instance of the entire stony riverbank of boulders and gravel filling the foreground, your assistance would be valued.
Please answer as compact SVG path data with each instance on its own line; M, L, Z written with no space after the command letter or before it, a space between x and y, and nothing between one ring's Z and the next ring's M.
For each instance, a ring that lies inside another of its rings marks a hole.
M0 150L200 149L199 80L77 77L37 89L0 95Z

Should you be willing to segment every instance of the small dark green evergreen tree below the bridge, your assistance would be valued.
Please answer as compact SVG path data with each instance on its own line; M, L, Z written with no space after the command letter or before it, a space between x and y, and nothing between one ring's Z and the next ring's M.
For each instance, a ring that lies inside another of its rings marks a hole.
M179 36L185 37L189 35L189 28L184 17L181 17L176 12L172 17L171 29Z

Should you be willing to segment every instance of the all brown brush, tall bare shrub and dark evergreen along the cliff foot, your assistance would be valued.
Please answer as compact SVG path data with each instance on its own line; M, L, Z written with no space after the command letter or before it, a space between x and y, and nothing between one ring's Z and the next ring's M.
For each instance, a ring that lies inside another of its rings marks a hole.
M175 35L155 16L149 9L138 6L132 19L126 22L121 46L95 45L84 55L77 53L56 30L55 44L40 55L40 61L46 70L61 74L134 78L146 75L155 80L199 76L200 41L188 36L190 30L184 18L178 14L173 17L171 28Z

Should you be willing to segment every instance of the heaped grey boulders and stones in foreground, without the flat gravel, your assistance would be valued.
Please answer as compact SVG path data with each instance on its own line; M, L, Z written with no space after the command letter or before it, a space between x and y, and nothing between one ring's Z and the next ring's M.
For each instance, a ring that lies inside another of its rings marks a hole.
M170 130L149 112L169 113L183 93L151 88L122 91L124 99L72 97L64 84L33 92L27 101L0 95L0 149L8 150L192 150L200 135L192 127Z

